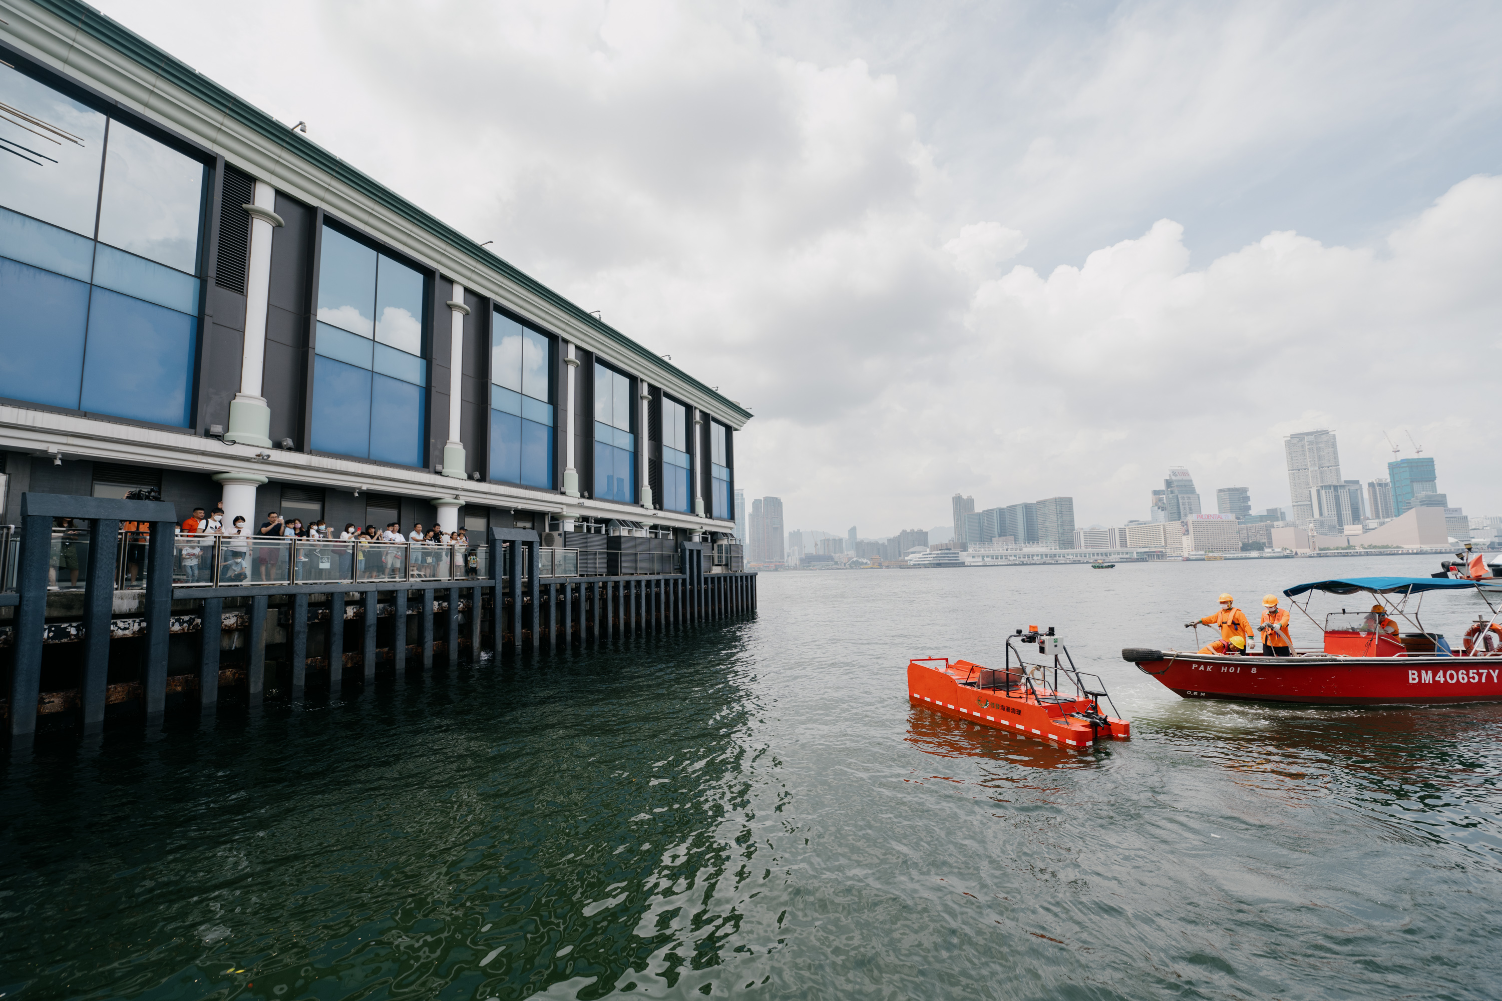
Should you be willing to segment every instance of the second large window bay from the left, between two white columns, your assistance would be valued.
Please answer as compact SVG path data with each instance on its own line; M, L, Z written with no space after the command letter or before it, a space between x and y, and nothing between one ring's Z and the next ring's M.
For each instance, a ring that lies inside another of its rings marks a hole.
M424 464L425 300L422 272L323 228L312 380L315 452Z

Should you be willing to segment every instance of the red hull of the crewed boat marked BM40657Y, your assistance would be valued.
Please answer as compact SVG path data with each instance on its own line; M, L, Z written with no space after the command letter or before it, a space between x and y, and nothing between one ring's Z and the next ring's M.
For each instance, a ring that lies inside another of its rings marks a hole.
M1253 657L1170 654L1136 662L1184 698L1307 705L1502 702L1502 657Z

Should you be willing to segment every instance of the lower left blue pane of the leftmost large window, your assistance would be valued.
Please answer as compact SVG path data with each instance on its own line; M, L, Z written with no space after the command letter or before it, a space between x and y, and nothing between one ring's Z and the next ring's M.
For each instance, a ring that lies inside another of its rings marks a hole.
M89 287L0 258L0 396L78 407Z

